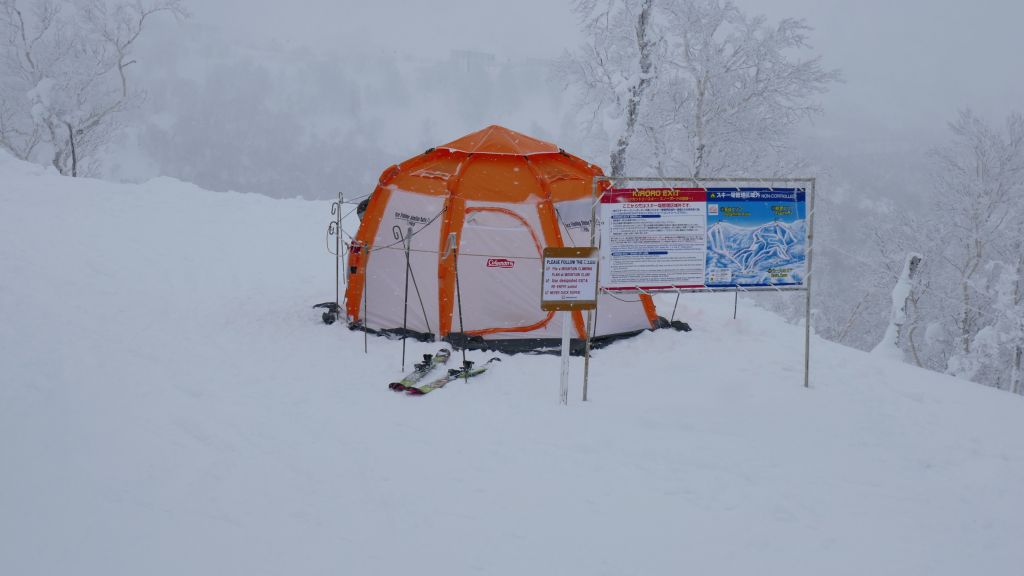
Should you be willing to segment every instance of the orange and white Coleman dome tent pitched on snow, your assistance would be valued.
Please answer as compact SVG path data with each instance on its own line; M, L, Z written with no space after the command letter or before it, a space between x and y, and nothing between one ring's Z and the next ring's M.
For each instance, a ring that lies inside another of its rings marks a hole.
M553 143L501 126L384 170L349 248L349 325L400 334L404 324L423 339L510 352L557 345L561 317L541 311L541 254L546 246L590 244L591 187L601 174ZM572 313L581 339L584 318ZM596 318L598 343L657 319L649 296L605 294Z

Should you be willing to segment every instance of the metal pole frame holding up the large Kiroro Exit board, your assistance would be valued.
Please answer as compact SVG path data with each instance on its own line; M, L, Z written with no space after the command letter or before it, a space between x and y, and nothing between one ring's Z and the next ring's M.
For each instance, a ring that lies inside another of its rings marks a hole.
M590 238L591 246L600 246L596 244L597 242L597 205L600 202L600 196L597 194L599 183L605 181L610 182L609 188L613 188L616 184L623 182L660 182L666 184L667 188L672 188L673 183L691 183L693 188L709 188L708 184L711 183L745 183L748 186L762 186L765 188L776 188L776 184L804 184L804 192L807 194L807 269L804 275L804 286L752 286L750 288L742 288L740 286L727 286L722 288L667 288L667 289L652 289L645 290L641 289L639 286L636 289L630 290L605 290L600 287L601 277L600 277L600 266L601 261L598 259L598 295L602 292L608 294L652 294L659 292L727 292L735 291L738 297L738 292L741 290L743 292L806 292L807 298L804 306L804 387L810 388L810 371L811 371L811 279L813 277L811 263L812 257L814 255L814 194L815 186L817 183L817 178L814 177L777 177L777 178L760 178L760 177L724 177L724 178L710 178L710 177L651 177L651 176L594 176L594 180L591 186L591 216L590 216ZM740 187L736 187L740 188ZM778 187L782 188L782 187ZM590 361L590 334L587 334L587 359L584 364L584 400L587 400L587 366Z

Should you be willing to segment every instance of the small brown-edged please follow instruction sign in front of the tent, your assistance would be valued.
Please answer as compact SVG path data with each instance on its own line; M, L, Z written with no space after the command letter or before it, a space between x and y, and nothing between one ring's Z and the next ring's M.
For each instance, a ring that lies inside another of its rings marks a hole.
M545 248L541 310L597 307L596 247Z

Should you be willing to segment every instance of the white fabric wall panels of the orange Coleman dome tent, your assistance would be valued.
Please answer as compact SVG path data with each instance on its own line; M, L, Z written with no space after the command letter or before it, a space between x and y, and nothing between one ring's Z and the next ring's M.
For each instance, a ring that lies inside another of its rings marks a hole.
M375 330L402 326L436 334L438 318L438 262L444 198L391 191L367 264L367 325ZM590 200L556 204L558 228L566 246L590 243ZM406 252L401 240L413 228L410 251L409 298L406 291ZM559 338L561 315L550 321L540 307L544 233L536 204L470 201L459 248L462 292L460 326L454 310L452 330L485 330L487 339ZM454 294L453 294L454 296ZM360 302L361 307L361 302ZM596 335L616 334L649 327L643 306L634 295L601 294ZM517 330L543 324L529 331ZM573 337L577 337L573 330Z

